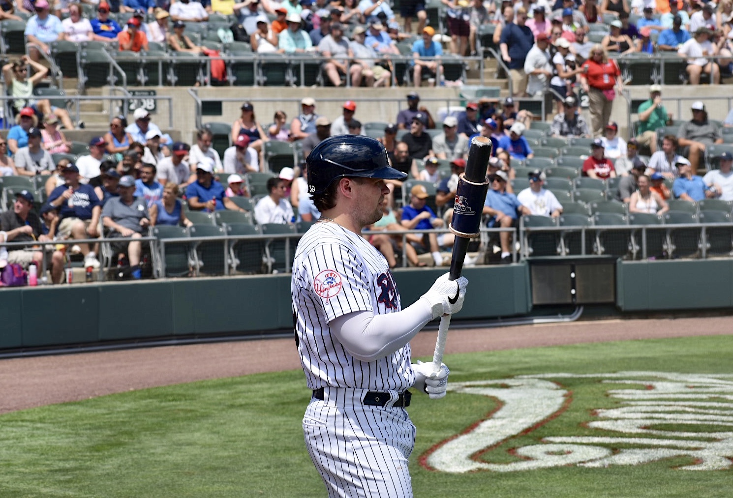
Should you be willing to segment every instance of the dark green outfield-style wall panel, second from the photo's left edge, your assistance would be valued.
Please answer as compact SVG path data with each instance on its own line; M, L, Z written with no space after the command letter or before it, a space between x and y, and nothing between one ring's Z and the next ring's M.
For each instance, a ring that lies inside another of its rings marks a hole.
M21 292L23 346L98 341L99 286L25 287Z

